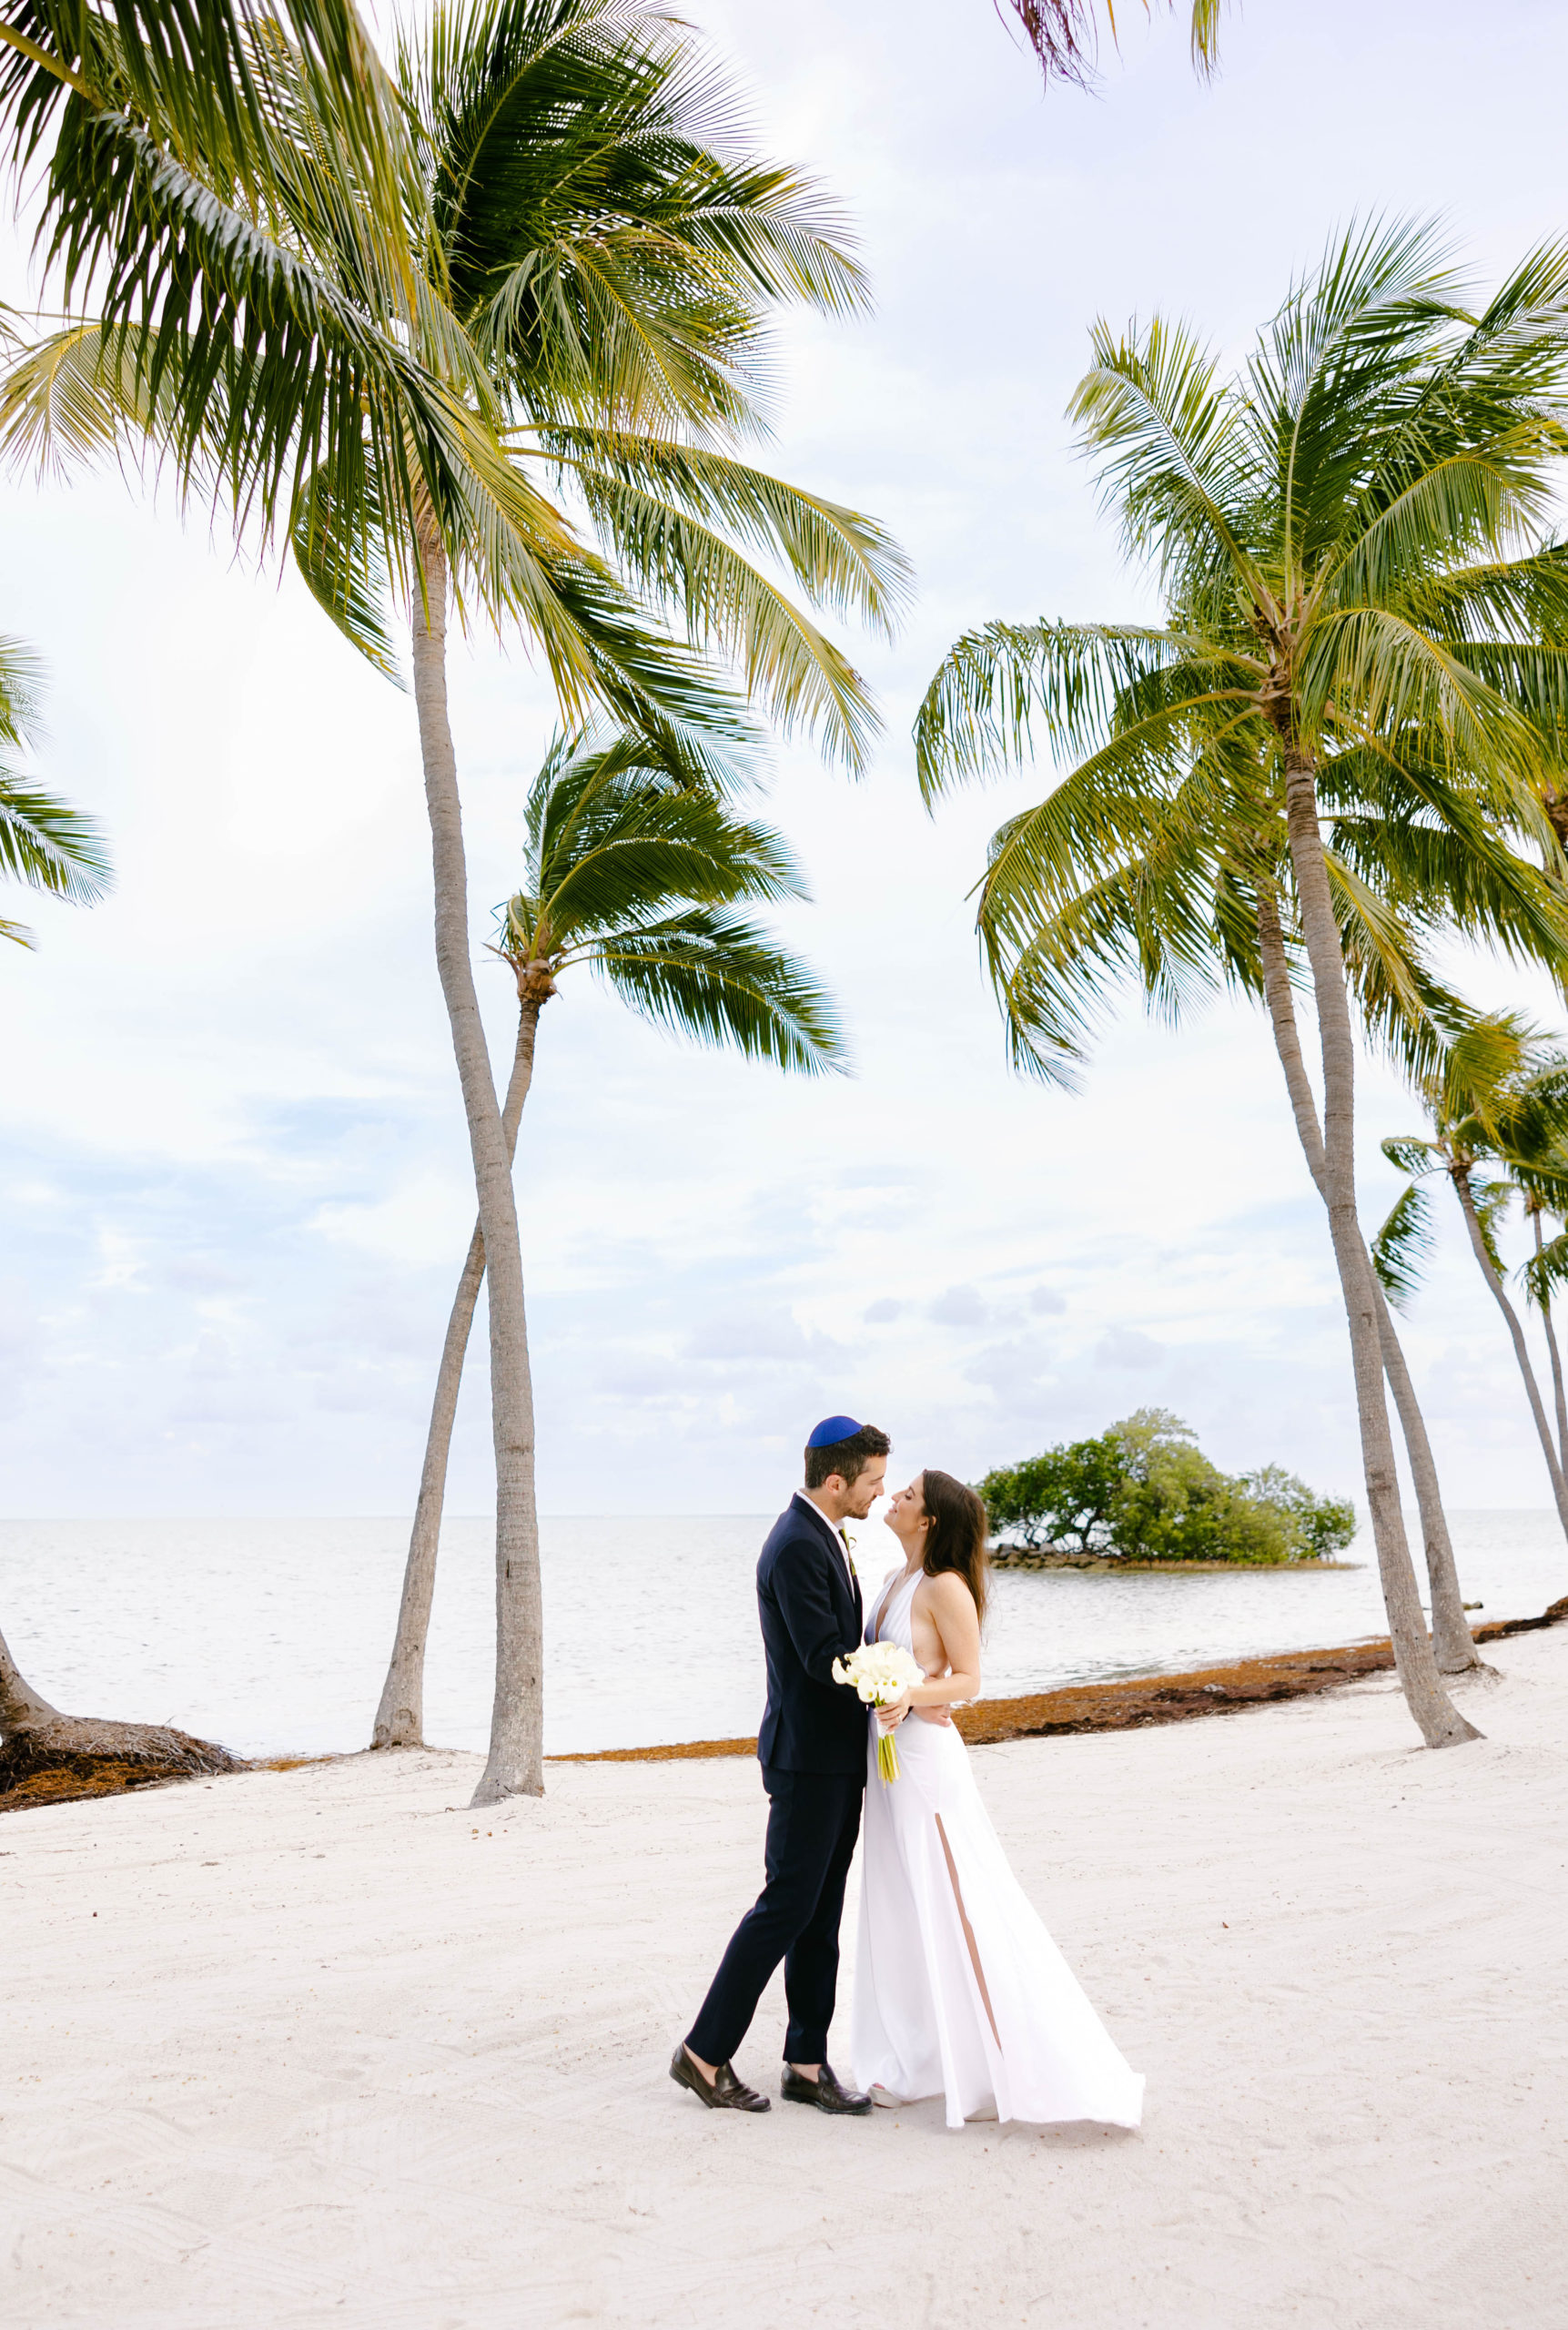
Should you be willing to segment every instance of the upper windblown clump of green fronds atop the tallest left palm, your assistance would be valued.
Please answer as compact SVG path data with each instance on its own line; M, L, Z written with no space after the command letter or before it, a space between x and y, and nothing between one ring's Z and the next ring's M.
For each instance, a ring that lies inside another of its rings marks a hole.
M440 7L398 79L450 298L536 410L734 424L760 312L864 303L836 207L743 151L734 89L655 7Z

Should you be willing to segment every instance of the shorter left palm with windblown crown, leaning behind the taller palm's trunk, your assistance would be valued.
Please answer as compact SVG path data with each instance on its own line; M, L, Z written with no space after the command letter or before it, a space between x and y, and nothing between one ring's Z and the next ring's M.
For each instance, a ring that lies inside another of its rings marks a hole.
M734 913L741 899L801 897L801 878L778 836L736 820L708 781L711 769L692 769L659 739L634 734L564 736L538 771L524 885L501 909L496 944L517 981L517 1048L503 1107L508 1153L534 1081L538 1016L578 967L596 972L641 1018L701 1044L729 1044L801 1074L841 1065L843 1044L822 993L799 962ZM375 1748L422 1743L447 1452L482 1279L485 1226L475 1223L436 1377Z

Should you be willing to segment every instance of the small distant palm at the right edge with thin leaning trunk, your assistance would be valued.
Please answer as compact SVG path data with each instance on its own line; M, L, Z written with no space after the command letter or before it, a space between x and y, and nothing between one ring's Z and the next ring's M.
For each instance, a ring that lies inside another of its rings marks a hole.
M1417 1090L1431 1121L1428 1137L1384 1142L1384 1156L1410 1174L1372 1240L1372 1263L1398 1305L1410 1302L1421 1282L1421 1263L1433 1244L1431 1191L1426 1181L1447 1174L1465 1221L1470 1251L1486 1291L1503 1312L1524 1396L1547 1463L1552 1498L1568 1535L1568 1477L1563 1440L1552 1440L1545 1400L1524 1321L1507 1298L1507 1272L1498 1251L1498 1228L1517 1195L1535 1221L1535 1270L1526 1279L1542 1309L1554 1379L1561 1386L1556 1337L1552 1335L1549 1270L1540 1268L1545 1242L1540 1212L1568 1209L1568 1058L1552 1051L1517 1011L1491 1011L1470 1021L1447 1044L1442 1060L1419 1079ZM1493 1170L1484 1170L1493 1167ZM1528 1270L1531 1265L1526 1265ZM1561 1391L1559 1391L1561 1412Z

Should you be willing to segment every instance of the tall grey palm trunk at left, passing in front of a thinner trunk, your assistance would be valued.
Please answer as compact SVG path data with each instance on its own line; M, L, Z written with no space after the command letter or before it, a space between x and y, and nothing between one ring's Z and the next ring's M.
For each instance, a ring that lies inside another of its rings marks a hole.
M496 1699L489 1759L473 1803L543 1796L543 1603L538 1584L538 1510L534 1498L534 1384L529 1319L522 1298L522 1247L513 1160L485 1048L485 1023L468 953L468 874L457 795L457 755L447 720L447 559L422 538L422 587L415 585L412 655L424 799L436 869L436 962L452 1023L452 1051L468 1116L468 1146L480 1200L489 1272L489 1414L496 1447Z

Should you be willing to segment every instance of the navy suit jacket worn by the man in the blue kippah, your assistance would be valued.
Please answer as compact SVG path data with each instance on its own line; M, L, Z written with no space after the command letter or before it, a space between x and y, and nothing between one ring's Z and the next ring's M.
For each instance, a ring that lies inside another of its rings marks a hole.
M757 1561L757 1615L767 1652L767 1713L757 1734L764 1771L864 1778L867 1710L834 1682L834 1659L860 1647L864 1612L843 1542L806 1496L794 1496Z

